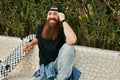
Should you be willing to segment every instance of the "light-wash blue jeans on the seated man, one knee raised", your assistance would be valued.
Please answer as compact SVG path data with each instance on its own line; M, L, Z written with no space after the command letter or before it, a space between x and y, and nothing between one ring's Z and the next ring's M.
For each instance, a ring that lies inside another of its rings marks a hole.
M68 80L72 73L76 51L73 45L65 43L59 50L58 57L54 61L54 66L57 71L54 80ZM30 80L48 80L46 77L41 79L41 76L33 76Z

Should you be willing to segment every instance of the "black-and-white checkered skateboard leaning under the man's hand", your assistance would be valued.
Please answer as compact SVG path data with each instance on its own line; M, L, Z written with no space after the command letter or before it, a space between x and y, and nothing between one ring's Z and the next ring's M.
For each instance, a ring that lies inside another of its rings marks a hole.
M28 35L25 38L22 38L22 42L10 53L10 55L4 60L0 60L0 80L4 79L23 59L26 52L22 50L22 46L32 41L35 38L35 34Z

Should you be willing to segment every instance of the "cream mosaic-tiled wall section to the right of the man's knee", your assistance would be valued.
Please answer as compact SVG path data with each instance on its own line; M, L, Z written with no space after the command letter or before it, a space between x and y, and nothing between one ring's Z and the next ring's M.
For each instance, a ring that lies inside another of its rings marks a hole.
M120 52L77 46L81 80L120 80Z

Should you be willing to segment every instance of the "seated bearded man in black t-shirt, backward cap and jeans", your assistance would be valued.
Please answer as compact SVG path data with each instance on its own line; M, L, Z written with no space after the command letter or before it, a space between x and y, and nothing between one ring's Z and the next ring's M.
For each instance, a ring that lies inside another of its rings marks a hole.
M50 5L46 22L39 26L36 38L23 46L24 51L36 44L39 47L40 69L36 71L31 80L68 80L74 65L73 44L76 40L76 35L66 22L61 6ZM47 73L51 75L49 72L51 64L56 75L48 77ZM45 68L42 69L42 66Z

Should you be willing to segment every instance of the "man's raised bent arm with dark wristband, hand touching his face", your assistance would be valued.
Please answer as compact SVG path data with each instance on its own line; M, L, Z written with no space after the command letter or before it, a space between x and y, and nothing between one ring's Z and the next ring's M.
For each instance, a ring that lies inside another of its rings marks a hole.
M58 13L58 16L61 22L62 20L65 20L65 15L63 13ZM68 44L75 44L77 41L75 32L72 30L72 28L66 21L62 22L62 24L63 24L64 34L66 37L66 42Z

